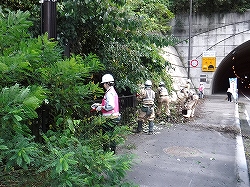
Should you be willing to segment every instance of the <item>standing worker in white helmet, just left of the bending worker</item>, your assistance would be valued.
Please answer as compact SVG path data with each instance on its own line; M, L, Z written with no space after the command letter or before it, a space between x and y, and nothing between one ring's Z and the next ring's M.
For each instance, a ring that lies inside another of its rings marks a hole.
M162 81L159 83L156 96L157 96L157 103L158 103L156 115L161 117L161 113L163 112L164 115L166 115L167 117L167 121L169 121L170 120L170 109L169 109L170 97L168 95L168 90L165 86L165 83Z

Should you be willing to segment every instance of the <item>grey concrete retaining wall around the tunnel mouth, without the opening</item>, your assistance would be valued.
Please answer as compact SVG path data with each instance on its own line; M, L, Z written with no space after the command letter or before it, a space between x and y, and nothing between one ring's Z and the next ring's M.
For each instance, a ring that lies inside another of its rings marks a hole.
M188 18L189 15L176 15L175 19L171 22L172 31L173 34L182 39L183 42L175 46L176 51L171 47L164 48L170 55L165 55L165 58L169 59L169 61L176 66L176 71L171 72L171 74L173 74L174 79L180 78L180 81L187 77L189 43L184 41L188 41L189 38ZM204 83L205 93L211 94L214 72L202 71L203 51L216 52L217 68L220 62L231 51L248 41L250 39L250 10L244 14L228 13L214 14L211 16L194 14L192 16L191 31L191 59L197 59L199 64L197 67L190 67L190 78L194 87L198 87L200 76L206 76L207 81ZM171 53L173 53L172 57ZM178 55L179 58L175 55ZM179 60L181 62L177 63ZM176 72L180 73L176 74ZM178 81L176 82L178 86L179 83Z

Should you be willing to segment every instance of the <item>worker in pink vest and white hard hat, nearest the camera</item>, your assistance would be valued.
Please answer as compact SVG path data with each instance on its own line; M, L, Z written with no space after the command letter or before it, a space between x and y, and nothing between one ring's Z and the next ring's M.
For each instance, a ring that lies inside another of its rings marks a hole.
M120 122L120 112L119 112L119 98L118 94L116 93L114 89L114 78L111 74L105 74L102 77L102 82L106 92L102 99L102 103L97 105L96 110L101 111L102 115L104 117L108 117L111 119L111 122L113 124L111 125L105 125L103 127L103 131L105 132L113 132L115 125L117 125ZM111 133L112 134L112 133ZM112 139L112 137L110 137ZM108 142L107 144L104 143L104 151L113 151L115 153L116 150L116 143L112 140Z

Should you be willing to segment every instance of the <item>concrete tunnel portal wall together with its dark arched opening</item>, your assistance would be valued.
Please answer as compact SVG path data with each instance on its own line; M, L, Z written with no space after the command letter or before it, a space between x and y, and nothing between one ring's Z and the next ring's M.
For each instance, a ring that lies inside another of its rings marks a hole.
M182 80L186 80L188 76L188 17L188 15L176 15L171 22L173 35L183 41L174 46L176 54L182 62L178 68L184 69L180 74ZM206 82L204 82L206 95L226 93L230 77L239 76L239 88L245 88L242 78L245 75L250 77L250 67L248 66L250 62L250 10L243 14L214 14L209 17L194 14L191 31L191 59L199 62L197 67L190 67L193 89L198 88L201 76L206 77ZM204 51L216 52L214 72L202 71ZM172 61L169 62L172 63ZM233 66L236 69L232 69ZM176 75L174 76L176 79Z

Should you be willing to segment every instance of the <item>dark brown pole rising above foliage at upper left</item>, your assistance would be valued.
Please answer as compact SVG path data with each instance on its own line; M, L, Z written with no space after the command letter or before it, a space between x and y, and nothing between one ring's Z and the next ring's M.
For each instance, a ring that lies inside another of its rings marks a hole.
M41 3L41 30L48 33L48 38L56 39L56 1L40 0Z

